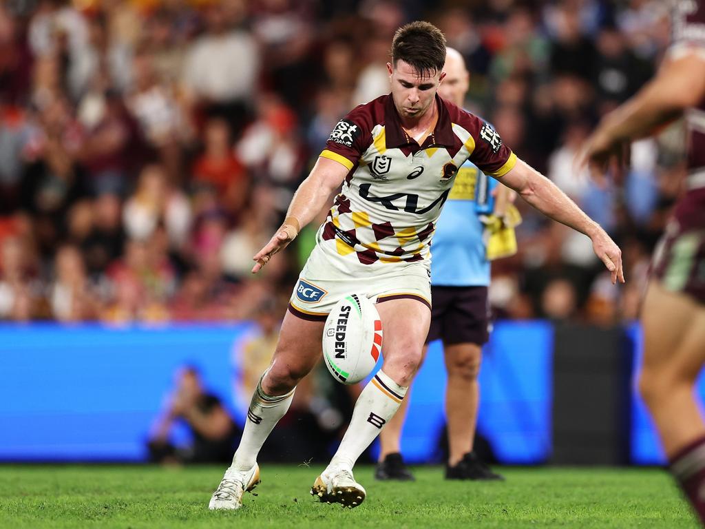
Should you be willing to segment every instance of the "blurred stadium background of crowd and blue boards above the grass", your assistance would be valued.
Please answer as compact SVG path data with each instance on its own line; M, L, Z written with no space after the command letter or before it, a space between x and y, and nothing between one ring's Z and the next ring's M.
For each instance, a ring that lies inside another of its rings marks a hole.
M613 288L587 238L519 205L519 253L493 265L478 446L501 463L661 463L630 379L682 126L635 144L612 190L571 162L654 72L665 4L4 1L0 461L147 461L185 366L242 425L317 225L262 274L251 256L338 119L388 91L393 31L423 18L465 56L467 108L625 255ZM434 348L405 430L414 462L443 451ZM310 377L265 458L324 461L353 398L324 370Z

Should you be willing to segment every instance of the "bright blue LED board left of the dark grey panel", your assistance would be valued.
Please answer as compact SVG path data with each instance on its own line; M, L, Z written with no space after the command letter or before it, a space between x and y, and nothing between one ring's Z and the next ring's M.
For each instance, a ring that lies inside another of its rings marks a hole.
M250 329L0 326L0 461L145 461L149 427L186 364L242 422L233 380ZM543 322L500 323L485 348L478 428L504 463L550 454L551 348ZM410 461L438 456L445 384L434 343L412 390L403 439Z

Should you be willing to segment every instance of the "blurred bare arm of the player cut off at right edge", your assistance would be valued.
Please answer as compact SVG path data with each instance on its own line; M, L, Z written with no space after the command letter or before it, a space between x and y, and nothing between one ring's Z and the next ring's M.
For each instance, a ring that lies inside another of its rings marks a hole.
M632 140L645 138L705 97L705 51L668 59L637 95L607 114L577 154L576 166L604 171Z

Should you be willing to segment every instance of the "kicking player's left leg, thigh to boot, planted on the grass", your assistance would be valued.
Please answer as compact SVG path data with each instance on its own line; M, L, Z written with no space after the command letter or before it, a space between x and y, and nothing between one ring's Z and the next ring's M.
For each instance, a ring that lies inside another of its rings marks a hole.
M259 483L257 454L289 409L296 384L319 360L323 326L323 322L309 322L286 313L272 363L252 395L233 464L213 493L209 509L239 509L243 493Z

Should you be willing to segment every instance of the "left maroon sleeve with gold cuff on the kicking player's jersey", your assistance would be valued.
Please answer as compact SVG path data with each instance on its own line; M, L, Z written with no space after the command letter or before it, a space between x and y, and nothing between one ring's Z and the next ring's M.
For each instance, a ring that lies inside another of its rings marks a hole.
M338 121L320 154L322 158L335 160L348 171L353 169L372 142L372 116L367 107L360 105Z

